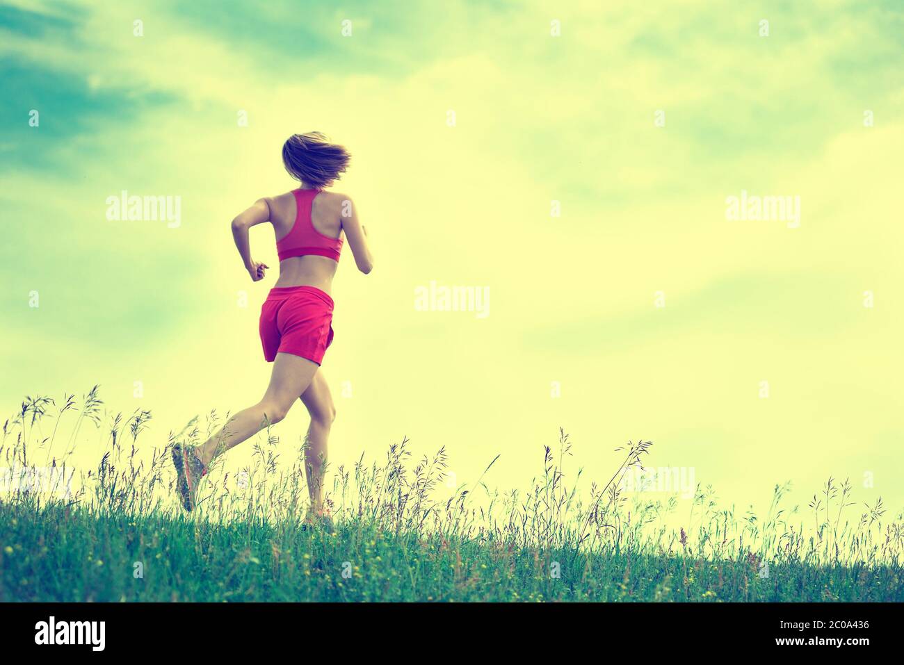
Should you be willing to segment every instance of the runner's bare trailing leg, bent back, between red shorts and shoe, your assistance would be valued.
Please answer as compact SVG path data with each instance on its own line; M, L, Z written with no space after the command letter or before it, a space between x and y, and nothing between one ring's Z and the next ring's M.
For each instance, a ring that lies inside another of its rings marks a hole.
M217 455L256 435L268 422L278 423L286 417L298 396L306 391L316 371L316 362L291 353L277 353L264 397L253 407L231 417L226 425L199 445L196 451L198 458L204 464L210 464Z

